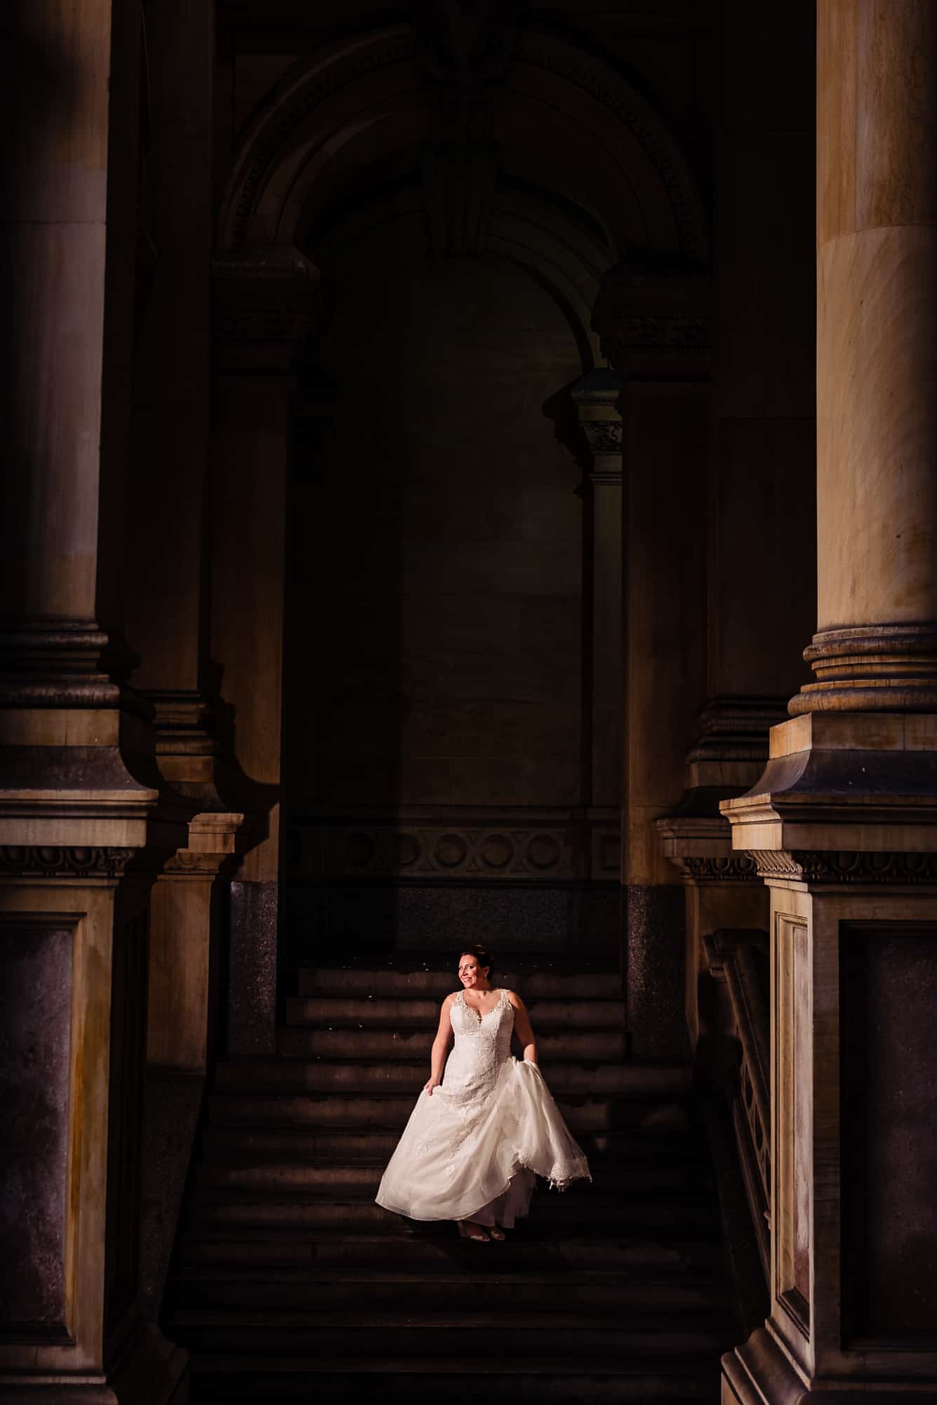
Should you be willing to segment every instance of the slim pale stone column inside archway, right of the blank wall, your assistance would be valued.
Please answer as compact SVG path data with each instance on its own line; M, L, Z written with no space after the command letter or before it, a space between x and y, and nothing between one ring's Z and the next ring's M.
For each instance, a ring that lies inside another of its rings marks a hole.
M589 873L616 878L621 829L621 382L589 371L572 388L589 450Z

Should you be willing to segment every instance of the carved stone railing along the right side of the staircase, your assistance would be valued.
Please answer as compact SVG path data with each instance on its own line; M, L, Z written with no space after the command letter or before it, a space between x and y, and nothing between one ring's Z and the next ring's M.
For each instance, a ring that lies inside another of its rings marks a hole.
M703 939L710 974L724 981L732 1009L735 1058L724 1069L739 1165L766 1280L771 1253L771 1094L769 937L715 932Z

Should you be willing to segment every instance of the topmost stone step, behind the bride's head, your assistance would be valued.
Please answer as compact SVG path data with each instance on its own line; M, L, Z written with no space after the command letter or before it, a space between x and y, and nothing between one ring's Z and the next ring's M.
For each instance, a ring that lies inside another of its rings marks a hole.
M407 962L412 962L407 968ZM621 976L617 971L564 969L560 964L523 968L519 962L497 971L497 984L518 991L525 1005L536 1000L620 1000ZM394 995L411 999L432 999L436 1005L459 989L454 964L440 965L438 953L432 960L417 961L398 954L394 965L344 969L337 967L306 968L299 974L302 996L353 996L387 1000Z

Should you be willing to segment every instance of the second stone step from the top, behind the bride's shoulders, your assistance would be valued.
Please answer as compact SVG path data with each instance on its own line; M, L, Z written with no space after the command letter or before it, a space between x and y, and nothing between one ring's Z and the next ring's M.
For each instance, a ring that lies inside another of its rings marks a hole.
M436 1031L439 1000L398 996L292 996L286 1002L288 1024L314 1024L318 1028L428 1028ZM527 1003L534 1030L609 1028L624 1024L624 1000L533 1000Z

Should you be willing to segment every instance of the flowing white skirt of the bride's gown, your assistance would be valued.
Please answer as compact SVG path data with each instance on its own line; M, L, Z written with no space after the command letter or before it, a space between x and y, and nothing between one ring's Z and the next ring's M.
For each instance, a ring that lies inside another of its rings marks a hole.
M591 1179L540 1069L509 1055L483 1094L445 1083L419 1094L376 1200L410 1220L509 1227L534 1176L560 1189Z

